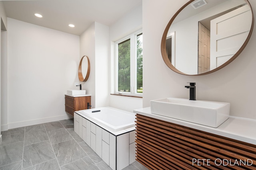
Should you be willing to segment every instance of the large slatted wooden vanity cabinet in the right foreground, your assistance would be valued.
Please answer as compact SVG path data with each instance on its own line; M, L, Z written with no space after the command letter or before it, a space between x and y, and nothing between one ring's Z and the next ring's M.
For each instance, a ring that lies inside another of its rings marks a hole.
M136 160L152 170L256 170L256 145L137 114Z

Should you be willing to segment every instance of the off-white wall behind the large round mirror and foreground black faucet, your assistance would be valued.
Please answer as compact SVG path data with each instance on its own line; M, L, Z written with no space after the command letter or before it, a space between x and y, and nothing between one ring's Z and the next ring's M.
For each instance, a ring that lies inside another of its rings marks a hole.
M187 82L196 82L197 100L230 102L232 116L256 119L256 29L244 51L217 72L185 76L170 70L164 63L160 50L164 29L186 2L188 0L143 0L143 107L159 98L189 98L189 90L184 86ZM255 14L256 1L250 4Z

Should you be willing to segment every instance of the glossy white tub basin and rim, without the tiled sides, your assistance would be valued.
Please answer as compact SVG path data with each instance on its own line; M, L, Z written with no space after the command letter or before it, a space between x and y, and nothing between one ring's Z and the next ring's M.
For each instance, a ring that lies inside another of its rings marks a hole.
M135 126L135 113L115 109L113 107L99 107L76 112L82 117L94 123L100 123L103 127L111 129L112 131L120 131Z

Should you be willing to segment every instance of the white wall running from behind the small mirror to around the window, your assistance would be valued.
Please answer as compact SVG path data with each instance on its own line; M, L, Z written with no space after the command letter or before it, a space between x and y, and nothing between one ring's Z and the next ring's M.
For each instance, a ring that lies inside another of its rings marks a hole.
M80 35L80 58L87 55L91 70L87 82L80 82L86 93L92 95L92 108L110 106L133 112L142 108L142 98L110 95L113 63L110 62L110 41L113 43L142 28L142 5L134 8L110 27L94 22ZM111 57L110 57L111 56Z

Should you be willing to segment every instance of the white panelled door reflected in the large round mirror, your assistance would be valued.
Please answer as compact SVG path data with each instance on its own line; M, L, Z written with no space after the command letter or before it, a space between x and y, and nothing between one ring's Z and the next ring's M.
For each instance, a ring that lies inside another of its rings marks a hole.
M236 54L250 32L251 20L248 5L211 20L210 70L226 63Z

